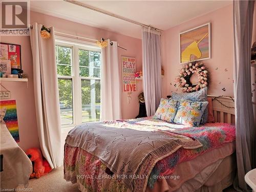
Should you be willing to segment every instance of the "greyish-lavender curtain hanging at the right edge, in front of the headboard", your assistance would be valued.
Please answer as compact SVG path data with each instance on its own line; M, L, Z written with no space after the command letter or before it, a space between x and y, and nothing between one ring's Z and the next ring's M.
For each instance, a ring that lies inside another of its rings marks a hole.
M253 163L256 160L250 66L254 3L254 1L233 1L237 165L239 187L243 191L247 190L244 176L255 166Z

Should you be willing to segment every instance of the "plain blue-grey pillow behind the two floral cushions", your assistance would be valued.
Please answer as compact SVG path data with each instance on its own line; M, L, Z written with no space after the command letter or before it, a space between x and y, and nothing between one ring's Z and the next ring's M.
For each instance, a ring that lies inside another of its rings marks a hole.
M190 100L190 101L207 101L207 87L200 89L199 91L191 92L191 93L173 93L172 99L178 100ZM208 109L203 112L203 115L200 120L200 124L205 124L208 118Z

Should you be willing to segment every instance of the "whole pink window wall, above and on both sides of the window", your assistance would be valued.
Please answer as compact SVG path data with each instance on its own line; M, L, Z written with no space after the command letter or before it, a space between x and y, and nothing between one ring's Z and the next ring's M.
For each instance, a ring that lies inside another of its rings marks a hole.
M54 26L56 31L73 35L100 39L101 37L117 41L127 51L118 49L119 58L121 55L136 57L137 71L142 70L141 39L105 31L102 29L70 22L65 19L31 12L31 24L38 24L47 27ZM17 102L17 115L19 124L20 142L23 150L29 147L38 147L37 127L35 120L34 92L33 92L33 71L30 39L28 36L2 36L1 42L8 42L21 45L22 68L29 75L29 88L25 82L3 82L4 86L11 91L12 98ZM122 93L122 114L124 119L134 118L139 112L138 95L142 92L142 81L137 82L137 92L132 93L131 103L127 103L127 93ZM65 137L65 134L63 134Z

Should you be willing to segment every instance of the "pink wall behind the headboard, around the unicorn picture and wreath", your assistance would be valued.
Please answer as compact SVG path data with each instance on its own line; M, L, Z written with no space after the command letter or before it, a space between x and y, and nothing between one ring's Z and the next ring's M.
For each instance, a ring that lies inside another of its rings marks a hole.
M163 97L176 91L170 82L174 84L175 77L181 68L179 64L179 33L208 22L211 23L211 59L203 60L211 73L208 94L233 96L233 21L232 6L227 6L163 32ZM216 70L217 68L218 70ZM225 72L225 69L228 71ZM222 91L224 87L225 92Z

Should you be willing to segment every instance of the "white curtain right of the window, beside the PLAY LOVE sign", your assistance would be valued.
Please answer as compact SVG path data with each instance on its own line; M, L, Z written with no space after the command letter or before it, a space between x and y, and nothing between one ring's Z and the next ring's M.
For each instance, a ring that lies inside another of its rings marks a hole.
M117 42L108 39L108 47L101 51L101 121L122 118L121 111L121 70L118 62Z

